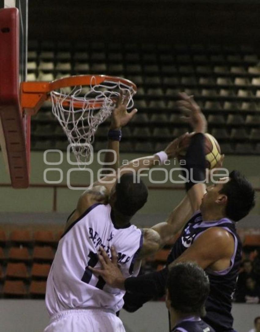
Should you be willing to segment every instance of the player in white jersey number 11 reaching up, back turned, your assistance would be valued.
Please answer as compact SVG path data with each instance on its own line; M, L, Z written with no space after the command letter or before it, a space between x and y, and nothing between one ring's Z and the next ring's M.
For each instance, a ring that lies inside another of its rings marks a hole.
M127 113L127 98L124 102L122 98L119 98L113 112L109 132L108 147L116 151L117 157L119 129L136 112ZM136 181L135 174L141 168L154 166L155 161L174 157L180 139L182 137L170 143L164 152L139 158L121 167L120 180L117 181L115 175L108 175L102 179L105 185L96 182L81 195L59 241L48 276L45 302L51 320L45 332L125 331L116 316L116 312L123 307L125 291L109 287L88 267L99 268L99 248L103 247L111 257L113 246L118 252L118 264L124 276L136 276L140 259L155 253L178 232L190 209L187 198L173 211L167 222L150 229L137 229L130 224L130 219L146 203L148 195L146 186L141 180ZM183 213L184 210L186 213Z

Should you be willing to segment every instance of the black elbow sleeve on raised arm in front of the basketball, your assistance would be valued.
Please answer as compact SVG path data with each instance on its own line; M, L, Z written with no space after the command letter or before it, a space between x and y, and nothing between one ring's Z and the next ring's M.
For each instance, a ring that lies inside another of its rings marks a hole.
M182 165L182 168L188 171L188 181L185 183L186 191L189 191L196 183L205 181L206 160L204 140L205 136L202 133L194 134L190 139L186 156L183 158L185 165ZM185 178L187 177L187 173L183 171Z

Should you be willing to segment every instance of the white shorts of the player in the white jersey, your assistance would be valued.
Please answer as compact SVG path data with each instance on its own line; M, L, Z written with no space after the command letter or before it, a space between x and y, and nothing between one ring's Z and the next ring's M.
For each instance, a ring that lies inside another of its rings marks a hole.
M111 311L71 309L53 315L44 332L125 332L125 328Z

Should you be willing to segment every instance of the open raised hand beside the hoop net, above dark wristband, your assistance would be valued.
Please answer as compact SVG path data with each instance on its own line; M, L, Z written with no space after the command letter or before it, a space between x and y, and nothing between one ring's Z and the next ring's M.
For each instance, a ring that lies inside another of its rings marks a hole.
M126 94L120 93L116 108L112 112L111 129L118 129L125 126L133 118L137 109L133 109L130 113L127 111L127 104L130 98L130 92Z

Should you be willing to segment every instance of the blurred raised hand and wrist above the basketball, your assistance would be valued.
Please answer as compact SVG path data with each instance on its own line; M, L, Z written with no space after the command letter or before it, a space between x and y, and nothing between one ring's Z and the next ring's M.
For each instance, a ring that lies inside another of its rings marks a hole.
M206 132L207 120L201 112L199 105L194 101L193 96L188 96L184 92L178 95L181 100L177 102L177 105L183 113L182 119L189 123L195 132Z

